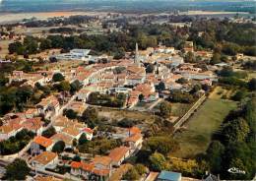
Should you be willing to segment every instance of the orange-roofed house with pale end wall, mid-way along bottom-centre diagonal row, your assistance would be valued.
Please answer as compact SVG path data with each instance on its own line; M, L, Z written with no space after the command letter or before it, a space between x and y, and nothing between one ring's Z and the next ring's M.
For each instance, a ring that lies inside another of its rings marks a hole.
M129 157L131 151L127 147L119 147L110 151L108 156L112 159L113 166L120 166L121 163Z

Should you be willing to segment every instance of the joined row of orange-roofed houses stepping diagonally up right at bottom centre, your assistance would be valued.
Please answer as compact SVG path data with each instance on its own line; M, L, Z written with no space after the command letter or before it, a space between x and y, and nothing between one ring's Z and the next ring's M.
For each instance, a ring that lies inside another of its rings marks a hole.
M72 161L71 174L88 180L108 180L114 167L120 166L125 159L140 150L142 143L141 130L132 127L124 139L124 146L109 151L107 156L96 156L91 161Z

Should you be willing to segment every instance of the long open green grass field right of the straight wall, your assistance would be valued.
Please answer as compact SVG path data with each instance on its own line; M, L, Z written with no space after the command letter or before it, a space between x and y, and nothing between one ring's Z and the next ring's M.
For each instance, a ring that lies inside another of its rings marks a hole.
M206 151L213 132L218 130L224 117L235 107L234 101L208 98L184 125L186 129L176 133L175 139L180 144L180 151L174 152L172 156L193 157Z

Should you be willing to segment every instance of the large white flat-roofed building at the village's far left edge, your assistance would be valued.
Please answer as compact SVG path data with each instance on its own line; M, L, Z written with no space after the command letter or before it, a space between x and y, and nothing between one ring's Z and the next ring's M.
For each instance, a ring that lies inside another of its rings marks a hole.
M89 60L91 58L90 49L72 49L69 53L56 55L57 60Z

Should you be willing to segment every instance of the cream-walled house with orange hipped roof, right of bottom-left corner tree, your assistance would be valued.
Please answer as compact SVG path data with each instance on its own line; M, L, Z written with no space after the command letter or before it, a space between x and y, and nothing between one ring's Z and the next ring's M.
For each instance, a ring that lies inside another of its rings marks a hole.
M38 170L54 169L57 164L58 154L51 151L43 151L32 158L32 166Z

